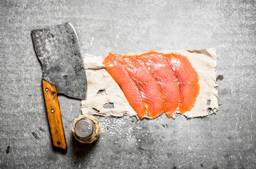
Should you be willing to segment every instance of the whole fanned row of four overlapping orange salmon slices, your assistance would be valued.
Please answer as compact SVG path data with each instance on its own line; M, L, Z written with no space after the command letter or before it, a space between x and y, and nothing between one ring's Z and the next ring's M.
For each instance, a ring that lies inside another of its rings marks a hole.
M103 61L139 118L163 112L190 111L200 91L199 78L188 58L178 53L150 51L122 56L109 53Z

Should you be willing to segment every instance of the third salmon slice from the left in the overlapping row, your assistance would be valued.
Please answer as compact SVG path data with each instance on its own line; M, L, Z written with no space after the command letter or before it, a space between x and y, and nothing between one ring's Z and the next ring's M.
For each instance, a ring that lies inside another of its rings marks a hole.
M136 58L141 59L146 64L148 71L154 78L164 99L165 114L170 118L178 107L179 89L175 73L163 55L164 53L150 51L137 55Z

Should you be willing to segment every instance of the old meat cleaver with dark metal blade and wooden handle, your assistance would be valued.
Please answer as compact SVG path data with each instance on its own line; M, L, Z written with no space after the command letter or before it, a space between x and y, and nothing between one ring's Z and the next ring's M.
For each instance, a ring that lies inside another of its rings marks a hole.
M31 31L42 68L42 87L54 148L66 150L58 93L86 99L87 80L76 31L71 23Z

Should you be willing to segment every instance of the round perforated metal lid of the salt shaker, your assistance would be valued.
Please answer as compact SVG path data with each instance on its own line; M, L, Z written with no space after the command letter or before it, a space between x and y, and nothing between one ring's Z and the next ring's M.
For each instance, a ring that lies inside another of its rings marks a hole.
M78 136L81 139L90 139L92 137L92 134L94 133L94 130L95 128L93 122L90 119L81 119L78 122L76 122L75 133L76 136Z

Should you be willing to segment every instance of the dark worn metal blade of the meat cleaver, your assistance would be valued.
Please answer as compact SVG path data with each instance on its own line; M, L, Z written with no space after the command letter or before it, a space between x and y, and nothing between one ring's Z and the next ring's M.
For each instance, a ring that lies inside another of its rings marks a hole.
M79 41L71 23L31 31L43 79L58 93L85 100L87 80Z

